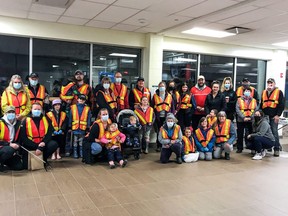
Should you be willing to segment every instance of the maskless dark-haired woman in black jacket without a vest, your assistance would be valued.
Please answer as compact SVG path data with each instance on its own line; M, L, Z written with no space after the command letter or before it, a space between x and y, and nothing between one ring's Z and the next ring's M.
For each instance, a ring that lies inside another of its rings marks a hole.
M208 115L212 109L216 109L218 112L226 111L226 100L219 88L220 83L218 81L213 81L212 92L207 95L205 100L206 115Z

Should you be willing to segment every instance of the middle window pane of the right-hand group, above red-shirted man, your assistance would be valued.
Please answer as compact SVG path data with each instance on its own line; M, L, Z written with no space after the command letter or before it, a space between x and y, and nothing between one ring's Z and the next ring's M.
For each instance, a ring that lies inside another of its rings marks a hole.
M206 85L211 86L213 80L218 80L222 83L225 77L233 79L234 58L201 55L200 59L200 75L205 76Z

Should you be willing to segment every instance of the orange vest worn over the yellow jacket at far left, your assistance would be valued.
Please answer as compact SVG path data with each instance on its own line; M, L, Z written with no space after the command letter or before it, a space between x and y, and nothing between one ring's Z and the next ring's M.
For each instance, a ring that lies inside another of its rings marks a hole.
M16 115L21 114L26 109L26 103L27 103L27 97L25 91L20 91L17 95L13 94L12 92L8 92L5 90L6 96L7 96L7 102L8 106L14 106L15 107L15 113Z

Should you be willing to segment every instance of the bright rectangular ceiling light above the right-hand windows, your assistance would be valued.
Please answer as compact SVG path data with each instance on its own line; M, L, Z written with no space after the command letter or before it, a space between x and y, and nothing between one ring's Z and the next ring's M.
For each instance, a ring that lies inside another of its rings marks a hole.
M212 30L212 29L205 29L205 28L198 28L198 27L195 27L186 31L182 31L182 33L207 36L207 37L216 37L216 38L223 38L223 37L236 35L235 33Z

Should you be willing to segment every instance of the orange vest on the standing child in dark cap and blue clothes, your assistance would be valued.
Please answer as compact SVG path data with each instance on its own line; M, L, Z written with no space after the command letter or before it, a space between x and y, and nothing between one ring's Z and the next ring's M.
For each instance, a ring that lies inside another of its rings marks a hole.
M90 111L90 108L88 106L84 106L82 114L79 117L77 105L76 104L71 105L72 130L77 130L77 129L80 129L83 131L86 130L89 111Z

